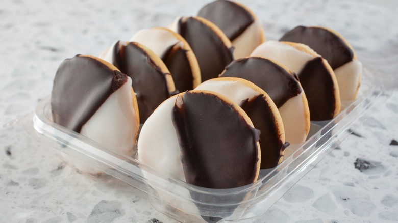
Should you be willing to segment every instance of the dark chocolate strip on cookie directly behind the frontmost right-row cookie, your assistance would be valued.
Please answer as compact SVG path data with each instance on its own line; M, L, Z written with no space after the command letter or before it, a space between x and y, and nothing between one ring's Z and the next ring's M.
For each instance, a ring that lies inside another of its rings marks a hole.
M240 102L240 107L252 120L256 129L260 130L261 169L273 168L278 165L284 143L279 140L275 116L269 108L264 95Z

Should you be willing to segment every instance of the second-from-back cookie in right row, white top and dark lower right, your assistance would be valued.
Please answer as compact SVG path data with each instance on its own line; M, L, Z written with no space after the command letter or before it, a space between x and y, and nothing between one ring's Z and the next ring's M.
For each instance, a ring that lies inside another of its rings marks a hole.
M305 44L266 41L251 54L269 58L299 76L310 108L310 119L333 119L340 112L339 86L328 62Z

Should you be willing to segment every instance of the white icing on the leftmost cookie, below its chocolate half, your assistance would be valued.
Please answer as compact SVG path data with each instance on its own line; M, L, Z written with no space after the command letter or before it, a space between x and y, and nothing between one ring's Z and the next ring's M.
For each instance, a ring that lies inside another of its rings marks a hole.
M139 123L138 115L134 113L132 97L131 78L128 77L127 82L111 94L82 126L80 134L115 153L131 156ZM82 172L100 173L91 165L72 159L66 154L63 155Z

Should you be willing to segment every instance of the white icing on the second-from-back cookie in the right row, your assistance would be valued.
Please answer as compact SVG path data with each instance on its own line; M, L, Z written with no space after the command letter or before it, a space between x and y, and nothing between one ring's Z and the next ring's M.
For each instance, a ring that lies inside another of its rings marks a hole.
M314 58L309 53L279 41L264 42L252 52L251 56L272 59L285 65L294 73L299 73L303 65Z

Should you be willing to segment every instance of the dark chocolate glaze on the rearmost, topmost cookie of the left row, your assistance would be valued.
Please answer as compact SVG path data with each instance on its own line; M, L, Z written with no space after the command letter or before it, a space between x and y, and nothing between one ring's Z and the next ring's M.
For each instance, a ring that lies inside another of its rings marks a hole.
M217 0L205 5L197 14L214 24L232 41L254 22L253 15L234 2Z

